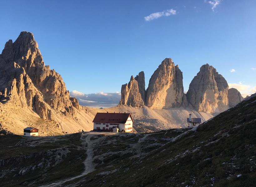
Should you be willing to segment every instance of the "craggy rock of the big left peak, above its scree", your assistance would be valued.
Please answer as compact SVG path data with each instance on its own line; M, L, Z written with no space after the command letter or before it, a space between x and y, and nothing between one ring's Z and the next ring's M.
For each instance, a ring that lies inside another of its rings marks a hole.
M41 118L52 119L53 111L74 116L79 104L65 83L44 61L32 33L22 31L17 40L6 42L0 55L0 92L16 106L29 108Z

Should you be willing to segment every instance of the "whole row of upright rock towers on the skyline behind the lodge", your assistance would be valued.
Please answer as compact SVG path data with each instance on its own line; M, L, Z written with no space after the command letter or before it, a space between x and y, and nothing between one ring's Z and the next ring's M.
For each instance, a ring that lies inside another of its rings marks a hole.
M144 74L144 72L143 72ZM152 74L148 88L145 91L145 102L135 106L136 97L130 95L129 103L120 104L131 107L147 106L151 109L193 108L198 112L218 114L235 106L244 98L237 89L229 89L225 78L217 70L205 64L190 83L189 90L184 93L183 75L179 66L172 59L165 58ZM145 79L144 79L145 85ZM121 89L121 98L128 93ZM137 95L138 91L132 93Z

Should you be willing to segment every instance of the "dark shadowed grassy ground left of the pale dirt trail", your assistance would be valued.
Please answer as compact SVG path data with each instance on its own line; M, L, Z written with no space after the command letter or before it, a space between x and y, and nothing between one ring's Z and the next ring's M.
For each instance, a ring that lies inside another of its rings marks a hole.
M0 136L0 186L38 186L78 175L84 170L84 149L79 134Z

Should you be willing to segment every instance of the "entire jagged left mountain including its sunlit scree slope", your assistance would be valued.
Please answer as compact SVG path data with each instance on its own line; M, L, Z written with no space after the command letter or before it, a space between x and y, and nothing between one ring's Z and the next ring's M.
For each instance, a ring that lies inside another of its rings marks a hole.
M0 55L0 104L6 109L1 108L0 113L0 120L5 127L11 127L15 115L24 113L20 126L12 125L13 129L19 129L19 133L23 126L35 124L40 125L40 132L43 128L47 129L42 124L53 125L57 130L52 131L52 134L57 131L77 132L79 128L91 129L89 126L92 123L86 120L87 114L81 110L83 107L76 98L70 97L61 75L44 64L33 34L27 31L22 31L15 42L7 41ZM6 115L12 112L15 114L10 115L8 121ZM27 117L25 113L35 116L35 119L38 115L41 119L52 122L28 122L27 119L33 117ZM74 125L73 128L70 123ZM60 124L62 127L59 127Z

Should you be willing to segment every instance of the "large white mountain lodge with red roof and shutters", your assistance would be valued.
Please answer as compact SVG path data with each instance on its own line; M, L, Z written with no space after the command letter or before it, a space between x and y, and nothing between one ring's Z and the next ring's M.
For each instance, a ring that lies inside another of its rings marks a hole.
M93 119L94 131L113 131L117 127L119 132L132 132L133 119L130 113L97 113Z

